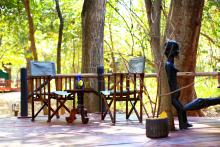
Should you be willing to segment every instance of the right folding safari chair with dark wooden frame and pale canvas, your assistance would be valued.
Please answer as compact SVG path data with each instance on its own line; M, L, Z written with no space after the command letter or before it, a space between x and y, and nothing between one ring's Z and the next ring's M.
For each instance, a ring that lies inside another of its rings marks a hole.
M101 91L103 105L105 106L101 111L102 120L109 114L112 123L116 123L116 102L124 101L126 102L126 119L129 119L134 111L139 122L142 122L144 62L144 57L131 59L128 63L128 73L112 73L105 77L107 87L106 90ZM139 112L136 108L137 102L140 102Z

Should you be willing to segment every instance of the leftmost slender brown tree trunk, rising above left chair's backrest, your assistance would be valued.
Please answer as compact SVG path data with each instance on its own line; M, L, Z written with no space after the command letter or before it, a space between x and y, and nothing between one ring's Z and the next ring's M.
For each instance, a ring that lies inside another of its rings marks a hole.
M34 23L33 23L31 10L30 10L29 0L24 0L24 7L25 7L25 11L27 13L28 24L29 24L29 40L31 42L31 46L29 48L29 51L32 53L32 57L30 59L27 59L27 61L32 60L32 59L37 61L38 57L37 57L37 50L36 50L35 38L34 38Z

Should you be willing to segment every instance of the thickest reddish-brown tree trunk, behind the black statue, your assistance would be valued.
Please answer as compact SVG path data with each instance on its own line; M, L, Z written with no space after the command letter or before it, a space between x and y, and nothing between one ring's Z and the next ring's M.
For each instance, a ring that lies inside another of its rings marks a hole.
M171 3L166 38L180 43L180 58L176 63L177 68L183 72L195 72L203 6L204 0L172 0ZM179 78L180 87L193 82L194 77ZM194 96L192 85L181 90L180 100L186 104L192 101Z

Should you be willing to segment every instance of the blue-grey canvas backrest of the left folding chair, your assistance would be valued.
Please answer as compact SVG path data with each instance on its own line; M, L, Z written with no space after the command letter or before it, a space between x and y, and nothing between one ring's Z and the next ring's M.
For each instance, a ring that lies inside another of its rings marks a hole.
M55 76L54 62L38 62L30 61L30 75L31 76Z

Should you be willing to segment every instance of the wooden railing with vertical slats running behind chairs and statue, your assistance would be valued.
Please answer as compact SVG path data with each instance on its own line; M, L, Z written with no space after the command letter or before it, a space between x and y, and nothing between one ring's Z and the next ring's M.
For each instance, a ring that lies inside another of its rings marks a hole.
M103 74L104 77L111 75L112 73L105 73ZM49 78L49 91L57 91L57 90L73 90L75 87L75 82L76 82L76 77L80 75L82 77L82 79L88 79L88 78L92 78L94 80L99 79L99 75L96 73L81 73L81 74L57 74L54 77L47 77ZM211 76L211 77L215 77L218 80L218 87L220 87L220 72L196 72L196 73L192 73L192 72L178 72L177 74L178 77L205 77L205 76ZM145 78L156 78L157 74L156 73L145 73ZM45 76L29 76L28 80L30 80L32 83L31 86L34 87L32 88L32 91L29 91L29 97L31 97L31 95L33 95L33 92L36 93L40 93L40 95L43 93L47 93L47 92L42 92L45 91L45 88L47 88L47 84L45 83ZM33 82L34 81L34 82ZM85 84L86 85L86 84ZM91 88L91 87L90 87ZM93 88L91 91L95 91L95 89L97 88ZM97 91L96 91L97 92ZM40 96L40 97L42 97Z

